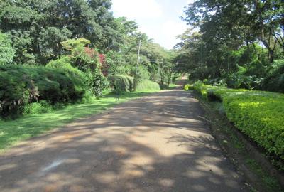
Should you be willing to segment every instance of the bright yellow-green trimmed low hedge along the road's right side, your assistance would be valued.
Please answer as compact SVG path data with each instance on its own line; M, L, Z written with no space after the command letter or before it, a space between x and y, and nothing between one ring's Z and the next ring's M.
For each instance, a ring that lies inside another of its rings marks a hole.
M284 160L283 94L200 84L194 88L207 100L222 101L226 116L241 132Z

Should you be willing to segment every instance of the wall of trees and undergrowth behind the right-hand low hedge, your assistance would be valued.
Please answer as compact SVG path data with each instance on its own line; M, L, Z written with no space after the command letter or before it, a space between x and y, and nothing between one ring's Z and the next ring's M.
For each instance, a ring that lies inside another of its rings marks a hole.
M192 28L179 36L176 70L211 85L283 92L275 69L284 57L283 11L280 0L189 4L184 20Z

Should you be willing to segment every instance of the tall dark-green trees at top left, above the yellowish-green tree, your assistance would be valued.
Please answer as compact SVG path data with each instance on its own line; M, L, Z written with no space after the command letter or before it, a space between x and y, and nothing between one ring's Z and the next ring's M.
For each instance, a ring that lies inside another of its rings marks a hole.
M16 63L47 63L62 52L61 41L87 38L102 50L122 41L109 0L0 1L0 29L9 33Z

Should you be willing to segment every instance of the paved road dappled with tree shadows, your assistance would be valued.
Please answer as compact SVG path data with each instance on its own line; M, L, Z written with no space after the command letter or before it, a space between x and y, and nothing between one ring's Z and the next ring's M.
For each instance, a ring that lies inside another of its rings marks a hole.
M188 92L170 90L0 155L0 191L243 191Z

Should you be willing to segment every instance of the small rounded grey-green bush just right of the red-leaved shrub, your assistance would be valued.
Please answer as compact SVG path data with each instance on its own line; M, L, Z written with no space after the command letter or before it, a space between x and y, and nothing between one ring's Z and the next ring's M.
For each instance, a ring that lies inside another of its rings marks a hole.
M117 92L133 91L133 78L126 75L113 75L109 77L109 84Z

